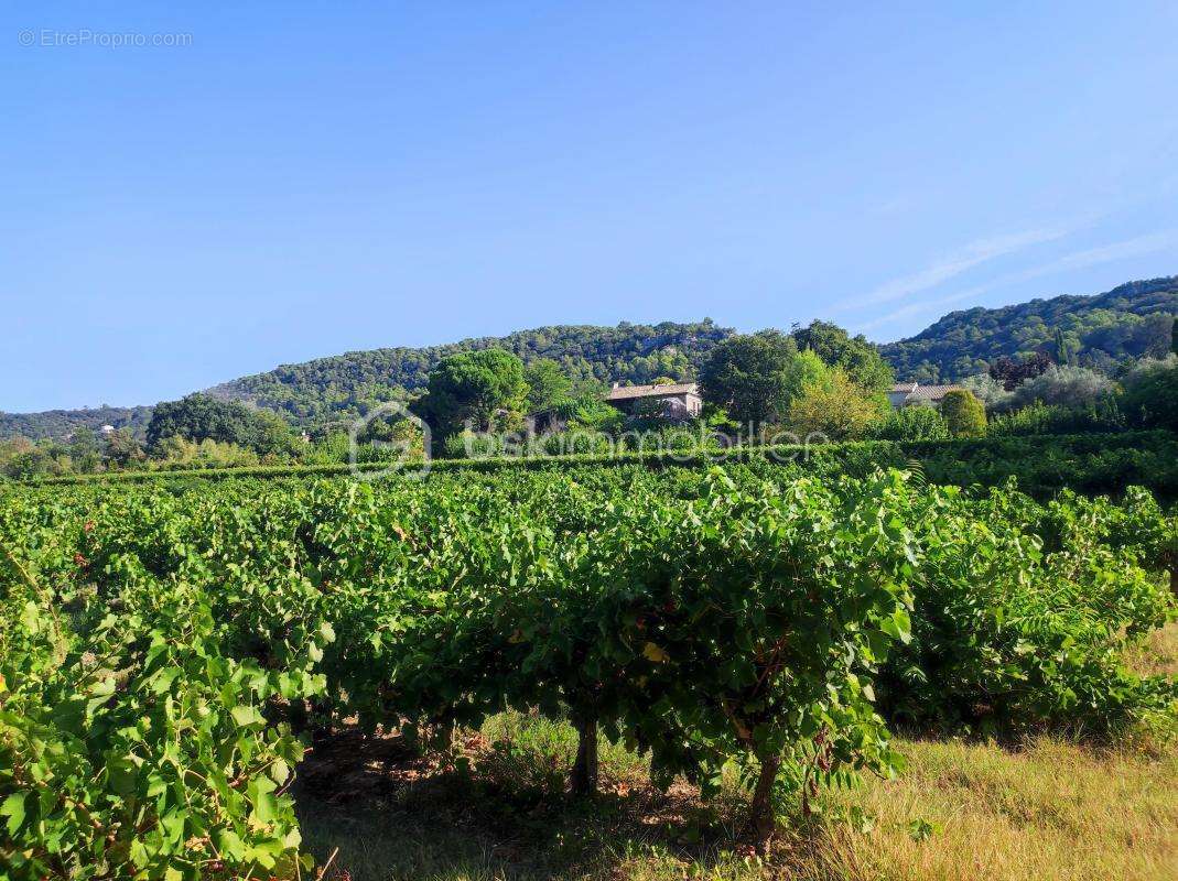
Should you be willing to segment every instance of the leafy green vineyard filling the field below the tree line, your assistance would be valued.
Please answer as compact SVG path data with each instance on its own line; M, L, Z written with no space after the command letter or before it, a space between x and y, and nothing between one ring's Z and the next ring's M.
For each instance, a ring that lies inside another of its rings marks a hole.
M615 744L736 775L763 853L902 775L895 730L1172 729L1124 663L1176 616L1151 491L743 459L0 486L0 866L316 877L292 786L343 730L461 770L498 714L570 722L569 797Z

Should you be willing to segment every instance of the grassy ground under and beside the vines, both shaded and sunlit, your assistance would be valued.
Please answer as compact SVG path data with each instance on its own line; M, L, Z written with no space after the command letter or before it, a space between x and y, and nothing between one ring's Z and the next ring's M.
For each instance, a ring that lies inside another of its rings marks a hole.
M1178 627L1133 663L1178 671ZM1178 877L1173 743L900 746L901 779L827 796L765 862L743 842L735 782L708 806L686 784L662 794L641 759L604 746L603 794L574 803L571 729L516 714L468 735L469 768L345 736L317 750L298 800L320 861L339 849L326 875L339 881Z

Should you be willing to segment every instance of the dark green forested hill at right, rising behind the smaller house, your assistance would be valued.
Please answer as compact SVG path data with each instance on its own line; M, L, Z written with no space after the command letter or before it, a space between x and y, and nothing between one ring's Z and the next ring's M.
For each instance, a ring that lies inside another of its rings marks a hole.
M1170 351L1178 276L1130 281L1096 297L1034 299L951 312L915 337L880 346L900 379L945 382L980 373L1002 356L1046 351L1110 370L1126 358ZM1063 345L1063 355L1060 352Z

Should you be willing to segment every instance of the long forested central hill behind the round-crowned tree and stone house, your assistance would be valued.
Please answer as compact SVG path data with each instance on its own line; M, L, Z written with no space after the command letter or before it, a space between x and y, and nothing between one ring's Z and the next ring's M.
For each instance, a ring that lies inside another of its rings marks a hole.
M404 397L424 387L448 355L505 349L528 364L551 358L575 382L649 383L659 377L686 379L721 339L733 331L710 319L654 326L623 322L616 327L561 325L481 337L424 349L376 349L284 364L210 389L210 393L278 410L298 423L316 423L359 412L365 405Z

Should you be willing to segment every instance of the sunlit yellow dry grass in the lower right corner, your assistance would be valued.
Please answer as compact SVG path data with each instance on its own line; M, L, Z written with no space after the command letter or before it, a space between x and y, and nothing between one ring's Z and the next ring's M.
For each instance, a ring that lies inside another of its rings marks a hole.
M1040 738L1017 751L907 742L907 773L847 796L869 834L830 824L803 877L1107 881L1178 877L1178 755ZM918 841L914 819L932 824Z

